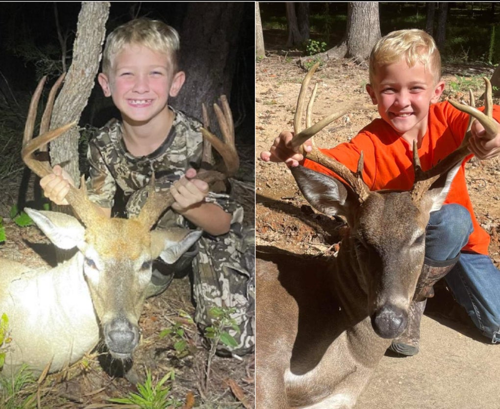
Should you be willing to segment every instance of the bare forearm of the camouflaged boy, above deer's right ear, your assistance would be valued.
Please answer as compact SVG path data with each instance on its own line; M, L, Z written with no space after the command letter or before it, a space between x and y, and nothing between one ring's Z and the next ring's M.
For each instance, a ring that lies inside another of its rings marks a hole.
M213 203L198 203L179 213L213 236L227 233L231 224L231 215Z

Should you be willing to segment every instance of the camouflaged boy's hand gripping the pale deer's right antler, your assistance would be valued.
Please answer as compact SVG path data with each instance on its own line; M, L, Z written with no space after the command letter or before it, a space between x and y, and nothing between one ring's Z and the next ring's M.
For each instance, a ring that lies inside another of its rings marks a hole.
M194 169L187 169L185 175L170 186L170 193L175 199L172 209L182 213L191 206L203 201L208 194L208 184L196 177Z

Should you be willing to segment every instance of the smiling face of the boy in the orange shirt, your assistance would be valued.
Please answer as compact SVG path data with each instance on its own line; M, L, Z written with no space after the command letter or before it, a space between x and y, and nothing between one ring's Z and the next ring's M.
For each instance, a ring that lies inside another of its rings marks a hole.
M432 73L422 64L409 68L400 61L378 66L373 83L366 91L380 117L408 141L423 137L429 105L439 100L444 82L434 84Z

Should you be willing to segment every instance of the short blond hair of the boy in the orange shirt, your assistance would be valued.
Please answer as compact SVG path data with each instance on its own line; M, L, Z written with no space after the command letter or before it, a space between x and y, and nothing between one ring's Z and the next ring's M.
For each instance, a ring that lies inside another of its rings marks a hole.
M373 84L376 68L403 60L409 68L422 64L434 77L434 85L441 78L441 56L434 39L422 30L393 31L375 44L370 54L369 80Z

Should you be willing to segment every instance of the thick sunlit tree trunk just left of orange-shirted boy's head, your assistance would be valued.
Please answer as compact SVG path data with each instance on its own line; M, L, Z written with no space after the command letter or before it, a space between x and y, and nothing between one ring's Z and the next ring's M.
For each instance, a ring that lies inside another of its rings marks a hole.
M350 2L347 10L346 57L366 60L380 37L378 2Z

